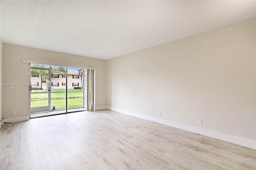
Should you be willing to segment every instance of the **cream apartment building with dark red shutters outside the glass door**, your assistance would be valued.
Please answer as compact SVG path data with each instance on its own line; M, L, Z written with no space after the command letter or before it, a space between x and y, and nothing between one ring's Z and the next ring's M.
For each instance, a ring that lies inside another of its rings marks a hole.
M66 75L60 75L59 73L52 73L51 75L51 89L66 89ZM77 75L77 72L68 70L68 89L74 89L74 87L82 87L82 77ZM31 75L31 86L47 88L46 83L41 84L40 75Z

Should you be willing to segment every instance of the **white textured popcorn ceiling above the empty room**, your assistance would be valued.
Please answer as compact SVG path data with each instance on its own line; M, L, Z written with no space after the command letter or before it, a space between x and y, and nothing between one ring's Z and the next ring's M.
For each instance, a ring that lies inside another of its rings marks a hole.
M3 42L110 59L256 16L256 1L3 1Z

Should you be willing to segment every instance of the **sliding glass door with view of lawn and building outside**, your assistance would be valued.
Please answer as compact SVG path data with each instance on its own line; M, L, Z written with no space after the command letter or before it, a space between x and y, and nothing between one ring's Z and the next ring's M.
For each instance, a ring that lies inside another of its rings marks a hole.
M84 70L31 64L30 117L85 111Z

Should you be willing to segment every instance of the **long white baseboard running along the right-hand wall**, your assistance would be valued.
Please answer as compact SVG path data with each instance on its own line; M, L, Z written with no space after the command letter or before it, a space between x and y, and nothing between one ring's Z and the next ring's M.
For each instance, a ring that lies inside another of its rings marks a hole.
M125 111L125 110L117 109L117 108L114 108L114 107L107 106L106 109L109 109L111 111L116 111L116 112L119 112L119 113L123 113L123 114L126 114L126 115L130 115L130 116L138 117L138 118L145 119L145 120L148 120L148 121L160 123L160 124L167 125L167 126L170 126L170 127L175 127L175 128L179 128L179 129L182 129L182 130L187 130L187 131L190 131L190 132L202 134L204 136L209 136L209 137L212 137L212 138L216 138L216 139L224 140L224 141L231 142L231 143L234 143L234 144L239 144L239 145L242 145L242 146L246 146L246 147L249 147L249 148L256 149L256 141L254 141L254 140L240 138L240 137L237 137L237 136L232 136L230 134L224 134L224 133L221 133L221 132L216 132L216 131L208 130L208 129L204 129L204 128L193 127L193 126L190 126L190 125L185 125L185 124L176 123L176 122L172 122L172 121L168 121L168 120L164 120L164 119L159 119L159 118L152 117L152 116L141 115L141 114L138 114L138 113Z

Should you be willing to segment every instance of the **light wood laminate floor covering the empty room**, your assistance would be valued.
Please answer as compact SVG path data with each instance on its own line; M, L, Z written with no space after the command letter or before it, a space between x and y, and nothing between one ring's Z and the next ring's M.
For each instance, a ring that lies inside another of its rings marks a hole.
M256 169L256 150L109 110L1 128L6 169Z

